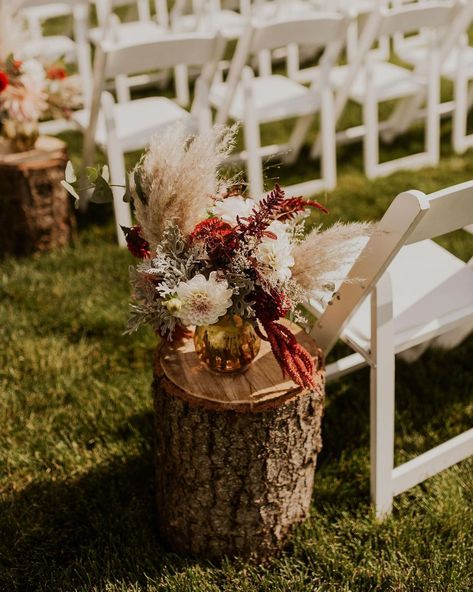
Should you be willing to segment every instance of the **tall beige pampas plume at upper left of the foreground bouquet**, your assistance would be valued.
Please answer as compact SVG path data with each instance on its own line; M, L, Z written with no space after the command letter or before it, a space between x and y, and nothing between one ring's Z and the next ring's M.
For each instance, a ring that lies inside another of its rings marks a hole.
M219 127L189 136L179 123L155 136L143 160L135 168L147 201L136 197L136 219L152 248L173 222L184 234L207 217L215 196L233 183L219 168L235 142L236 127ZM133 183L133 181L132 181Z

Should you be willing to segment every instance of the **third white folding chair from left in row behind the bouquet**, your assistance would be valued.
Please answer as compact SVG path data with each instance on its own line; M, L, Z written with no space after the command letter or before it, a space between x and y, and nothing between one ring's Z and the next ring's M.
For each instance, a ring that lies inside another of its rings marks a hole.
M331 82L336 88L335 115L341 115L347 99L359 103L363 109L363 126L344 130L348 141L362 137L364 167L369 178L389 175L400 169L434 166L439 160L439 101L440 74L438 68L438 31L449 22L455 8L453 0L418 2L399 8L379 8L367 19L360 39L360 54L352 64L332 70ZM383 60L370 59L369 48L382 36L397 32L407 33L425 27L432 31L431 44L422 70L411 70ZM379 104L401 100L420 93L426 96L425 150L417 154L380 163L380 132L389 129L391 122L380 122ZM339 136L337 136L338 138ZM313 152L317 153L318 144Z

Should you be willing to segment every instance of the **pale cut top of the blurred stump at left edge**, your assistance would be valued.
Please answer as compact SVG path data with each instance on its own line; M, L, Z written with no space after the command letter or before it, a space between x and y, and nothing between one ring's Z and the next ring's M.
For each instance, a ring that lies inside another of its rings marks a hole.
M52 136L40 136L32 150L9 152L9 142L0 140L0 166L17 169L41 169L54 165L54 161L64 161L66 144Z

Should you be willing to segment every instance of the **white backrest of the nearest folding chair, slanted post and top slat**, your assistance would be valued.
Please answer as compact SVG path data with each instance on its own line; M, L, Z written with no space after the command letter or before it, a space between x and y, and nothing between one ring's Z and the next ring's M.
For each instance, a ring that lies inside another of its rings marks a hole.
M471 223L473 181L430 195L414 190L398 195L354 263L337 297L315 323L312 336L319 347L330 351L404 245L448 234Z

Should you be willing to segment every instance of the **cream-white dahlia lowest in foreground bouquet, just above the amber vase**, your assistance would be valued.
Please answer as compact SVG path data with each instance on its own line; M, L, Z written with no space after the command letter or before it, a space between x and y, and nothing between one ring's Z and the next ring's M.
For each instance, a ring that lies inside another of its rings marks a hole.
M213 325L232 304L233 292L227 280L217 280L215 271L208 280L199 273L180 282L176 293L182 305L174 314L184 325Z

